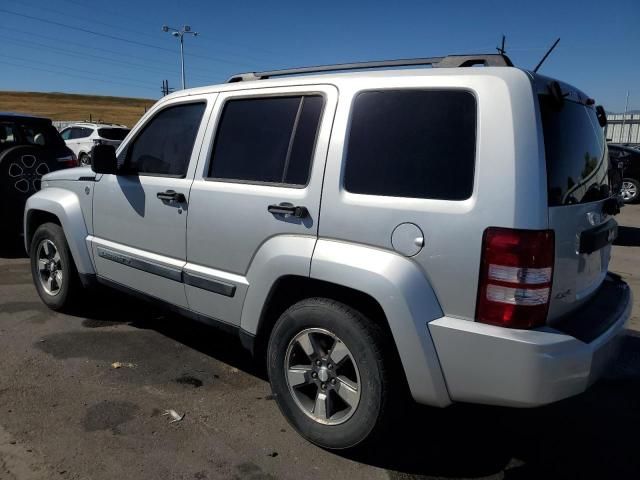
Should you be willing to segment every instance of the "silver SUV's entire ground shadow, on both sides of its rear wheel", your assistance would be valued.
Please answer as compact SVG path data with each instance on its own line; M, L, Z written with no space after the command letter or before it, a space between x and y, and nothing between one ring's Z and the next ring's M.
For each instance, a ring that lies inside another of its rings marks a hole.
M234 335L110 290L101 293L101 308L96 310L82 314L85 326L128 323L152 329L267 379L264 366ZM123 317L133 320L110 320ZM632 479L640 478L638 431L640 333L628 331L620 357L580 396L534 409L412 405L375 445L334 454L386 469L393 480Z

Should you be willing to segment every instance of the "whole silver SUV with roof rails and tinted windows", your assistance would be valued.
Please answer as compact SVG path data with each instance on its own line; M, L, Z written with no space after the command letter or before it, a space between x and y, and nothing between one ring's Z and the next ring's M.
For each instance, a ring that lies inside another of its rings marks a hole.
M326 448L375 438L409 396L576 395L631 310L593 103L500 55L176 92L117 155L45 177L24 216L35 285L53 309L97 281L232 329Z

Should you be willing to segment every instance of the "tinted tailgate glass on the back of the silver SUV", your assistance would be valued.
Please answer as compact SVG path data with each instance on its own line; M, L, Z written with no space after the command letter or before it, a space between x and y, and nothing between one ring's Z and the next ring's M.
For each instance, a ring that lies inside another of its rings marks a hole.
M594 202L609 196L608 159L596 112L540 97L549 206Z

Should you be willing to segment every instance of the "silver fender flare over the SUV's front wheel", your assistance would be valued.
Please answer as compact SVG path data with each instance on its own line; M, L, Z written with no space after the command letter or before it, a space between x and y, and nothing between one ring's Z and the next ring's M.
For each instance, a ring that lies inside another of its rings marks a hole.
M88 235L87 225L78 196L70 190L51 187L40 190L29 197L24 208L24 241L27 251L29 251L27 225L36 210L48 212L58 217L78 272L83 275L95 274L91 255L85 242Z

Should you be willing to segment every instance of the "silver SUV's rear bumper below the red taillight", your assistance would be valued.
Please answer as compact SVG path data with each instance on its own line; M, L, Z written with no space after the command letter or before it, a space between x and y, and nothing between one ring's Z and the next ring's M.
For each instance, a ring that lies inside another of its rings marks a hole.
M600 319L607 328L589 341L549 327L512 330L450 317L430 322L451 399L535 407L586 390L616 355L631 315L627 284L613 276L607 281L615 284L617 295L609 303L608 318ZM579 318L568 323L575 325Z

